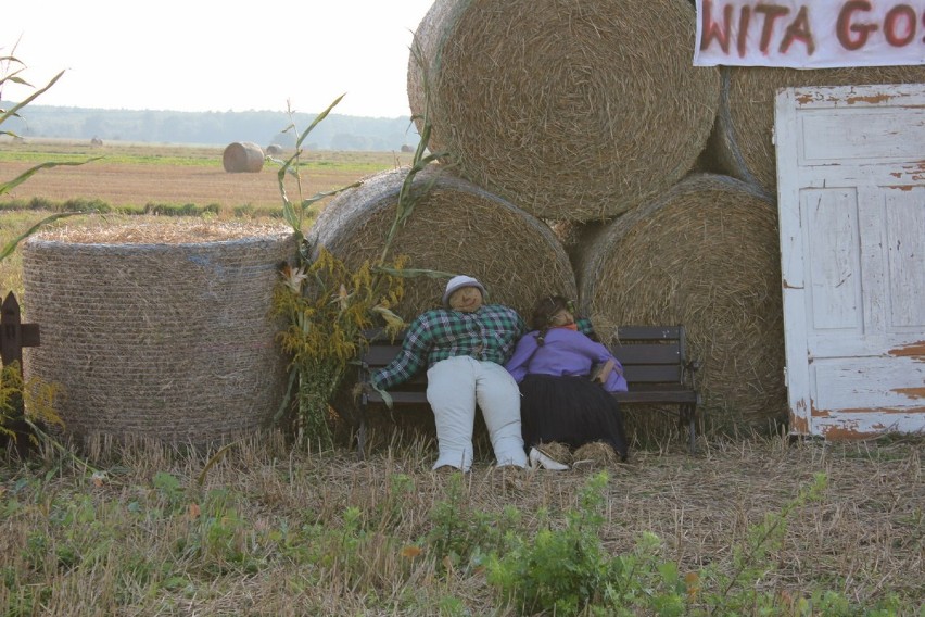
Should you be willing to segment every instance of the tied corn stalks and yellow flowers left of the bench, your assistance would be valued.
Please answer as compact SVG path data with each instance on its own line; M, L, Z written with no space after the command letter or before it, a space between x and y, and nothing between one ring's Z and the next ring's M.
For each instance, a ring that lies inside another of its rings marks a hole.
M294 124L286 129L297 134L295 152L282 162L278 173L282 218L300 241L294 266L283 267L282 280L274 297L274 310L287 323L280 335L282 348L292 358L290 392L295 394L295 413L293 421L287 426L296 442L303 445L314 443L322 449L333 445L330 425L335 414L331 404L344 385L349 366L368 344L365 331L378 326L394 337L405 326L403 319L392 312L404 293L403 279L432 274L411 272L406 268L407 257L390 254L397 228L413 214L422 193L430 189L430 186L423 190L413 189L415 176L436 161L435 155L426 152L429 125L422 131L421 142L398 196L395 219L377 261L366 261L356 270L351 270L325 247L312 247L305 239L304 226L313 214L313 206L321 199L359 184L316 193L307 199L302 196L303 141L341 98L335 99L304 131L299 133ZM287 180L294 181L297 200L290 199ZM383 393L383 398L391 401L388 393ZM288 405L289 401L277 415L278 421Z

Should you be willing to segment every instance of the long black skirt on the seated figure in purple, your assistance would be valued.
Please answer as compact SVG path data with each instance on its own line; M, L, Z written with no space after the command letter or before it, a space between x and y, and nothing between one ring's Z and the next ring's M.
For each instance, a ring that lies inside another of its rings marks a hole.
M557 441L572 448L603 441L625 459L629 449L617 400L586 377L528 375L520 382L520 417L528 450Z

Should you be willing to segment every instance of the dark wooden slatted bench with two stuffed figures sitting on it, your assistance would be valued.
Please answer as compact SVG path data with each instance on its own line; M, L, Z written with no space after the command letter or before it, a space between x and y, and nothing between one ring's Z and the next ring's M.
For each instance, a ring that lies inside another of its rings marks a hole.
M381 330L366 333L369 348L359 360L358 381L367 382L371 373L389 364L401 350L402 339L389 340ZM694 387L696 367L685 354L683 326L621 326L619 342L611 351L629 385L628 392L616 392L621 404L654 405L675 413L682 428L686 426L688 448L696 452L697 405L700 396ZM408 381L389 390L394 408L427 406L427 376L418 373ZM359 428L357 446L364 452L367 410L384 405L379 392L365 390L358 400Z

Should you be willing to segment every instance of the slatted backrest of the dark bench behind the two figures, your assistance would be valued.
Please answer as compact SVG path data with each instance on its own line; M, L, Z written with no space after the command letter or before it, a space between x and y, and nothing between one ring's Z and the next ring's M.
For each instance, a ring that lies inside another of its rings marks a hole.
M623 375L631 386L680 383L684 380L683 326L621 326L617 329L618 342L610 351L623 365ZM369 332L375 341L360 358L365 369L376 370L389 364L402 349L402 339L390 341L377 332ZM423 390L427 378L423 372L402 386L403 390Z

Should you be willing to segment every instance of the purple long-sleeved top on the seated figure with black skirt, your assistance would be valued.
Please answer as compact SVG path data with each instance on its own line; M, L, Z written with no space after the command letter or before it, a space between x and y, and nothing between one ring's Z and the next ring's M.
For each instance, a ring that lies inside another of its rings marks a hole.
M616 368L604 383L604 389L608 392L626 391L623 366L603 344L568 328L552 328L546 332L545 344L540 347L536 344L536 330L524 335L518 341L514 355L505 364L505 368L518 383L523 381L528 374L587 375L592 365L612 360Z

